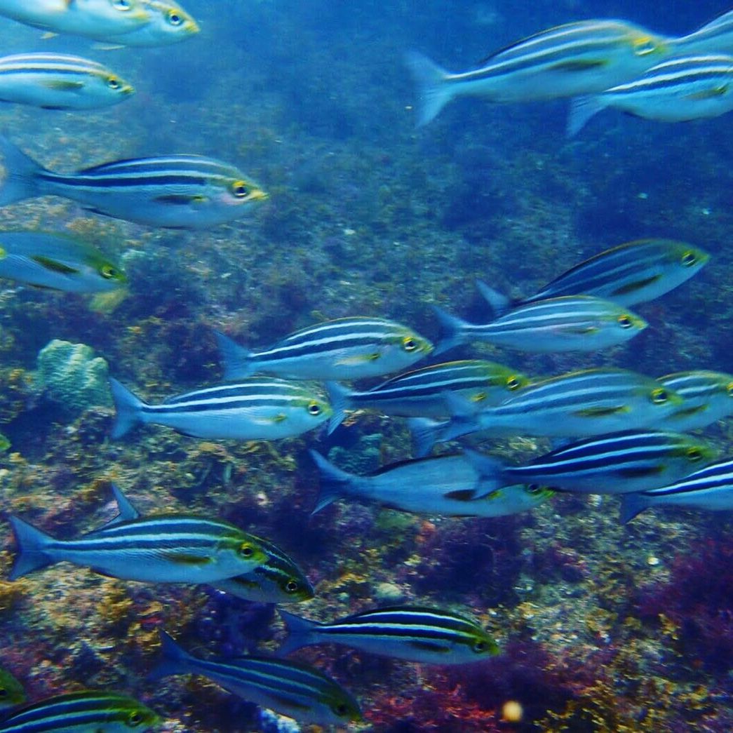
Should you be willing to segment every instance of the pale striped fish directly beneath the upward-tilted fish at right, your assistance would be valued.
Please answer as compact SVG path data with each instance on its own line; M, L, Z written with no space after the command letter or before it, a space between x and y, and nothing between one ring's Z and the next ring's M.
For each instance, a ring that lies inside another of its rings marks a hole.
M597 351L622 344L649 325L636 313L590 295L534 301L489 323L468 323L438 306L432 309L446 334L435 354L470 341L531 353Z

